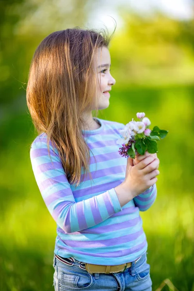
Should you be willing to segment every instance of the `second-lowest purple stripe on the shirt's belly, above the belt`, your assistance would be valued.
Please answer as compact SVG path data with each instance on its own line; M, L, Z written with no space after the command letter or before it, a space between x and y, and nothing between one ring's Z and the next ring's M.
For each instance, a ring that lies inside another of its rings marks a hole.
M102 247L106 246L114 246L117 244L131 242L137 240L144 233L143 228L135 233L127 234L124 236L120 236L118 238L108 239L108 240L97 240L97 241L70 241L65 240L65 244L70 247L83 247L83 248L93 248L93 247Z

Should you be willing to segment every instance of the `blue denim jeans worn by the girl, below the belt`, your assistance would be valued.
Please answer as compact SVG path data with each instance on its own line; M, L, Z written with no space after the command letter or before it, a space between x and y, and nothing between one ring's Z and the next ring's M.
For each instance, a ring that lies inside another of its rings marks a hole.
M152 281L146 262L146 253L122 273L90 274L79 267L79 261L66 265L57 257L53 258L55 291L151 291Z

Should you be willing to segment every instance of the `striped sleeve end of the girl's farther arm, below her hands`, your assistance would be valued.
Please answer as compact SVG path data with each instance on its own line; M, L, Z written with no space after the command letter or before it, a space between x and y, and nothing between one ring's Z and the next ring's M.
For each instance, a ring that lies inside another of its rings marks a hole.
M139 194L138 196L133 198L133 201L137 207L139 207L140 211L148 210L157 196L157 187L156 184L148 188L144 193Z

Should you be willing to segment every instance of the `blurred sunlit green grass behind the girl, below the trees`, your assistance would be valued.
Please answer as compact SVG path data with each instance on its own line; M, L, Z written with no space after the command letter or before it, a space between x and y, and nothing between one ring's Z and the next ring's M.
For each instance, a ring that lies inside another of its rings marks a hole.
M194 291L193 93L193 87L176 86L113 90L110 107L99 114L127 123L144 111L153 126L169 130L159 144L157 199L141 213L153 291L166 278L178 291ZM0 290L53 291L56 224L32 172L29 115L7 119L1 137Z

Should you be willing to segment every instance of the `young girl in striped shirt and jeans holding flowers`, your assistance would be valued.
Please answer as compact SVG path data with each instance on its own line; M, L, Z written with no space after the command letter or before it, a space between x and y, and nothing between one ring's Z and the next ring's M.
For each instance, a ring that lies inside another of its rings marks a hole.
M159 159L121 157L125 125L97 117L115 84L110 39L79 27L53 32L30 68L27 104L39 134L30 157L57 223L55 291L151 290L140 211L155 201Z

